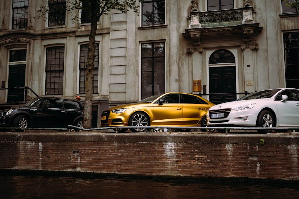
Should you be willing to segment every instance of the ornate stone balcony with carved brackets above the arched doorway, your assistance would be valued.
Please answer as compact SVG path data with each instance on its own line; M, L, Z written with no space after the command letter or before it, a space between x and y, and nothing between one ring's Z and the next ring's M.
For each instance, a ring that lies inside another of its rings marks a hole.
M258 49L258 44L252 37L260 33L263 27L254 20L253 6L228 10L194 11L188 17L188 28L182 33L183 37L191 41L190 48L201 52L201 40L210 36L218 39L230 37L231 40L241 38L241 47ZM192 52L191 52L192 53Z

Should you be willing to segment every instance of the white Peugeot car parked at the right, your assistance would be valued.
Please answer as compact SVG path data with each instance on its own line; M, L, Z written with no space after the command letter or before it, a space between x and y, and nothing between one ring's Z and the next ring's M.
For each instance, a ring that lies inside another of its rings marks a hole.
M299 89L279 88L249 93L215 105L207 114L209 127L299 127ZM271 129L258 129L269 133Z

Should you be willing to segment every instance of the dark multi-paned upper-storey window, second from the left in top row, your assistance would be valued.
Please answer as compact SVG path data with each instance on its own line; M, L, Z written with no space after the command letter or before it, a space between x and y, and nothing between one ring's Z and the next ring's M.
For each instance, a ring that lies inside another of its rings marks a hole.
M49 0L49 27L65 25L65 7L65 0Z

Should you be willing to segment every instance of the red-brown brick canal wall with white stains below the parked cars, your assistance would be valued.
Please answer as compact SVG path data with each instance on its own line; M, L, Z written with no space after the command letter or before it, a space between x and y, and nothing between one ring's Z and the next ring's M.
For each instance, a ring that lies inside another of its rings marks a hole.
M298 180L298 144L298 135L10 132L0 133L0 169Z

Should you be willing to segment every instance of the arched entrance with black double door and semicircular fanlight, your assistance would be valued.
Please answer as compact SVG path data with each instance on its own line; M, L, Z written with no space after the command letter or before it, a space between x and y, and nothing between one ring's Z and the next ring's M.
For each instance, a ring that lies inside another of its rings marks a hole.
M209 57L209 92L210 101L220 104L237 99L236 93L236 59L226 49L214 51ZM216 94L217 93L217 94ZM219 94L223 93L223 94Z

